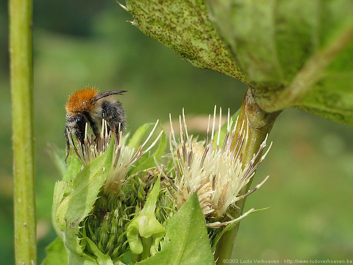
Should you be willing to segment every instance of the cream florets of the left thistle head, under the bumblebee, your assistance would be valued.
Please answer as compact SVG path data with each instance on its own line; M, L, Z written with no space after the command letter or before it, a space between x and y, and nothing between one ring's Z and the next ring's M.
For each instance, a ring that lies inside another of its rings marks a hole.
M163 131L161 131L155 138L155 140L145 150L143 150L147 142L151 139L154 131L156 130L158 122L159 120L157 120L154 124L153 129L151 130L144 143L141 144L136 150L135 148L130 148L127 144L125 144L125 139L123 139L123 134L120 130L120 127L117 132L112 132L108 130L107 123L105 120L102 120L102 129L96 139L94 135L88 137L88 125L86 123L85 138L83 145L78 144L78 146L76 147L72 138L70 142L76 154L80 158L83 167L86 167L89 163L91 163L96 157L98 157L107 149L113 133L115 138L115 145L112 158L113 164L109 171L109 174L107 174L107 178L103 186L103 192L105 194L111 191L119 192L123 182L126 179L130 167L134 165L134 163L136 163L145 153L147 153L161 137Z

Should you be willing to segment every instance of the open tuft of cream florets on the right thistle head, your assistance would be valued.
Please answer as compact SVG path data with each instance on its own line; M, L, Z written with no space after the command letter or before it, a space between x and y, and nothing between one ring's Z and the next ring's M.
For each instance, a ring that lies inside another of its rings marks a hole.
M252 160L243 164L243 152L249 138L249 123L247 120L239 121L238 117L232 126L233 121L228 110L226 134L224 141L220 144L221 115L220 108L217 139L215 139L215 107L211 132L210 115L206 141L197 141L188 133L183 109L183 117L179 116L180 142L177 142L169 114L171 128L169 144L175 167L175 178L173 181L170 180L172 186L170 192L179 206L183 205L194 192L197 192L202 212L207 218L223 217L230 205L234 205L236 201L253 193L268 179L267 176L264 181L244 195L239 194L254 176L272 143L260 157L266 146L266 136ZM220 223L217 222L217 224ZM210 223L208 226L215 227L216 224Z

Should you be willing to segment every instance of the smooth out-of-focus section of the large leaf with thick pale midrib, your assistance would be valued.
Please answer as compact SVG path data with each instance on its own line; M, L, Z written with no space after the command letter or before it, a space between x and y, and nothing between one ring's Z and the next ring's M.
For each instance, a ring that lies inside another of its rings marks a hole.
M353 125L353 2L208 0L266 112L297 107Z

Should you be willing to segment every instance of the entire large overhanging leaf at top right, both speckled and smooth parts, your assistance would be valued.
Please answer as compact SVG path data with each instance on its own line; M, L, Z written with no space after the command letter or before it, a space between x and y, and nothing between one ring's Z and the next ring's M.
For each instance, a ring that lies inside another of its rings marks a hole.
M192 65L247 83L264 111L353 124L353 2L207 2L128 0L127 11Z

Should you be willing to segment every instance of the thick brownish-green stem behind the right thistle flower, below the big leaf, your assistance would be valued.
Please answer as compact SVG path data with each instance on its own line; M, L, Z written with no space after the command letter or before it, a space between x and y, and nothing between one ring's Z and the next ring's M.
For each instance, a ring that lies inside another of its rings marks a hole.
M243 119L247 118L249 122L249 142L243 153L243 165L250 162L253 154L256 153L260 144L265 139L266 135L271 131L274 121L280 112L266 113L255 102L251 88L243 99L243 104L239 114L239 124L242 124ZM251 185L251 181L242 189L240 194L246 193ZM232 216L237 218L242 215L245 199L237 202L239 209L233 211ZM224 264L223 259L232 258L233 246L237 236L239 224L232 230L224 233L217 244L215 257L218 258L217 264Z

